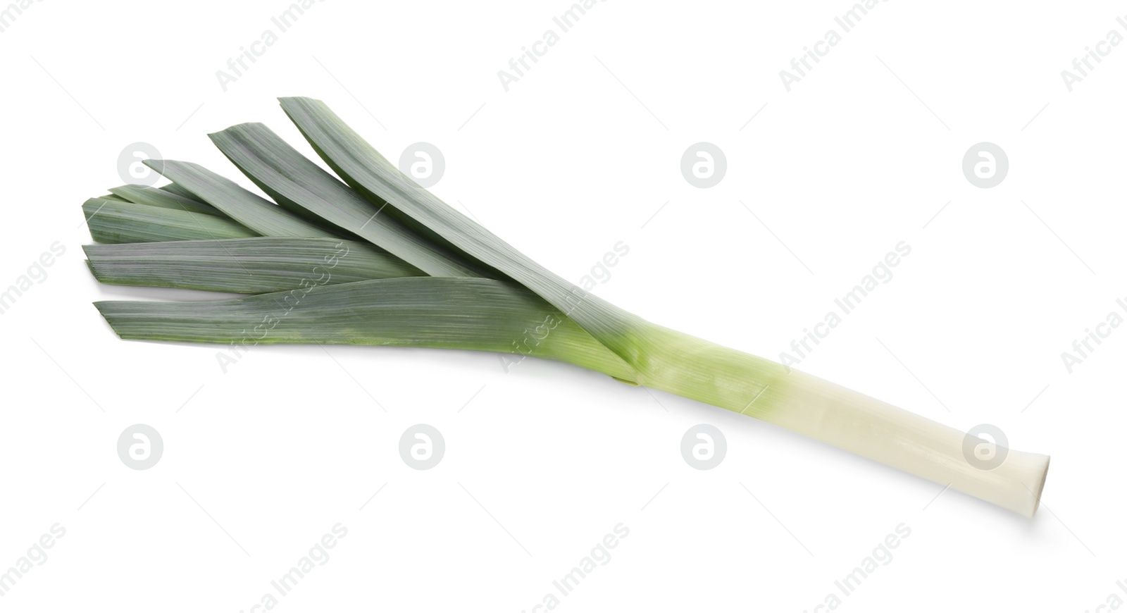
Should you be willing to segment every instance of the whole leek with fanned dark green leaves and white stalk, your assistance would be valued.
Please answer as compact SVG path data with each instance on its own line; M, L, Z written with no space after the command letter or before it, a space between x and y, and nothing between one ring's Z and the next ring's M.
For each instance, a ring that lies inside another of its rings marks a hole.
M1036 512L1047 455L997 450L1004 462L984 470L965 455L967 435L955 428L619 309L420 188L323 103L281 103L336 177L266 126L243 124L212 141L274 202L196 165L149 160L174 181L159 195L168 197L119 188L113 194L128 202L85 205L98 207L88 211L96 241L148 242L88 247L99 281L254 294L96 303L122 338L543 357L756 417L1026 516ZM348 255L329 259L339 246Z

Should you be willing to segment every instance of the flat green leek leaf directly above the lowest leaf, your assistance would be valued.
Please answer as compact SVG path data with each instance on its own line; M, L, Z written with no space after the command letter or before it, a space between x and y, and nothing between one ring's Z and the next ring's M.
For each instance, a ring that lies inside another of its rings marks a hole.
M94 276L114 285L259 294L308 283L423 276L418 268L367 243L325 238L87 245L82 249Z

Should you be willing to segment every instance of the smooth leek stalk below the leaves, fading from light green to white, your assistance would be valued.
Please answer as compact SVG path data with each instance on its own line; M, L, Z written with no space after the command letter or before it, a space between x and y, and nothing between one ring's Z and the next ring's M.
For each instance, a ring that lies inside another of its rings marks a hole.
M1002 465L983 470L968 462L962 432L849 388L667 328L650 327L635 343L641 385L757 417L1026 516L1037 510L1047 455L1005 450Z

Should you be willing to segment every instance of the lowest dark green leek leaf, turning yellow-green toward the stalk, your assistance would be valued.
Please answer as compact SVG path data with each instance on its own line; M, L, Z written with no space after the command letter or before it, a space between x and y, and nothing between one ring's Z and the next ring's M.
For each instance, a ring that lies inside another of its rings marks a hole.
M95 305L126 339L531 352L627 381L632 372L535 294L485 278L402 277L213 302Z

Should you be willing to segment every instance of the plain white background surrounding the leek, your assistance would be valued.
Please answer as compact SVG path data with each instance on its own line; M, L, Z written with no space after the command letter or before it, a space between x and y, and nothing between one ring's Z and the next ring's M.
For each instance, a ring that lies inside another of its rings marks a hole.
M1127 328L1071 374L1061 357L1127 296L1127 45L1071 92L1061 77L1127 34L1127 5L880 2L788 92L779 71L848 1L610 0L506 92L497 71L566 0L329 0L223 91L286 6L44 0L0 34L0 287L66 249L0 316L0 570L66 531L0 608L250 611L336 523L276 610L532 611L620 523L557 610L813 612L899 524L838 610L1127 599ZM248 187L207 132L264 122L312 156L278 96L326 100L392 159L434 143L432 190L567 278L624 241L598 295L772 358L906 241L800 367L1051 454L1041 510L561 364L269 347L224 374L215 346L119 340L92 301L214 296L95 283L81 203L139 141ZM680 171L700 141L728 161L710 189ZM983 141L1010 160L991 189L961 171ZM116 455L137 423L166 446L147 471ZM429 471L398 454L419 423L446 441ZM680 453L701 423L728 441L710 471Z

